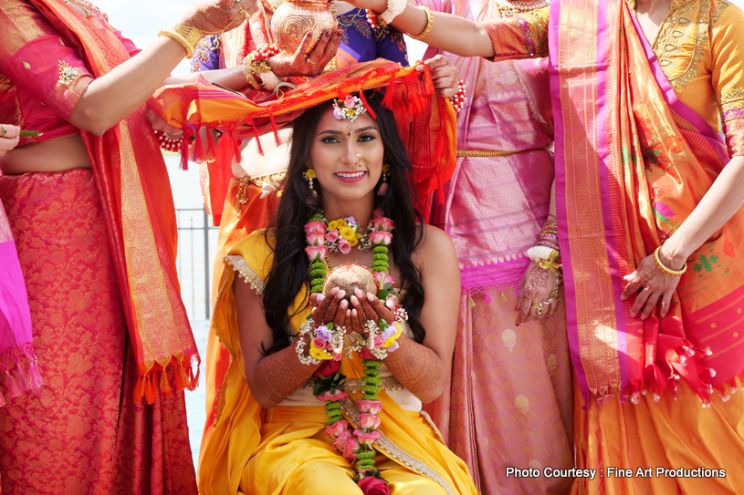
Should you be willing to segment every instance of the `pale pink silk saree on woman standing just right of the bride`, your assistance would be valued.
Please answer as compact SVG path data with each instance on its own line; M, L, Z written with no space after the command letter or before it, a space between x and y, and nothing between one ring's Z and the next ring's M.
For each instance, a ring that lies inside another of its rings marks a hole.
M419 0L477 22L498 21L489 0ZM570 479L506 477L506 468L573 466L571 364L562 309L514 325L517 288L537 242L553 180L547 59L492 62L445 55L466 82L457 115L460 156L432 223L455 243L462 298L452 376L424 408L484 495L564 493ZM471 153L473 154L473 153Z

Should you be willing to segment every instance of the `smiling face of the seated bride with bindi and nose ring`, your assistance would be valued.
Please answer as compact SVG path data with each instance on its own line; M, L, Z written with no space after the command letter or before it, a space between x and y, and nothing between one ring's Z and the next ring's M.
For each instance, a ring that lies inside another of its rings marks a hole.
M380 130L369 112L351 122L336 119L329 108L315 131L309 163L324 201L356 201L375 193L383 156Z

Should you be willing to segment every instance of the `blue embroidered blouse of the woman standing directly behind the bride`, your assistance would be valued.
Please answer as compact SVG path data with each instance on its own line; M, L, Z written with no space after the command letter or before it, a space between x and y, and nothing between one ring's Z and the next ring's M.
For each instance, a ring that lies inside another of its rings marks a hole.
M374 60L375 58L385 58L398 62L402 66L408 65L408 52L405 48L403 35L393 26L373 28L367 22L365 11L358 8L338 15L337 19L339 27L345 30L339 51L335 57L337 68ZM222 65L220 64L220 58L220 36L208 36L194 50L192 70L202 72L225 67L225 62Z

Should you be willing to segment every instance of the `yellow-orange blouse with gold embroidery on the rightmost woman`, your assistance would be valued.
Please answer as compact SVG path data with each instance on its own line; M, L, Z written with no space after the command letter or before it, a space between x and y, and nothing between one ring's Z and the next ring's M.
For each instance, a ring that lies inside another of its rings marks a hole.
M633 10L634 0L626 1ZM549 10L486 23L495 59L547 55ZM652 48L676 97L713 129L722 130L729 155L744 155L741 9L726 0L672 0Z

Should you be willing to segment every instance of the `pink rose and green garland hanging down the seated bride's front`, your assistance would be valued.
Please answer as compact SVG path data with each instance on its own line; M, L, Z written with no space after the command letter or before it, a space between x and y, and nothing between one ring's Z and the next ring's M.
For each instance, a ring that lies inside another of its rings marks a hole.
M377 297L384 300L393 290L393 278L390 276L388 246L393 242L394 223L382 216L381 210L372 213L372 221L365 236L373 245L372 273L377 283ZM362 248L362 236L359 224L353 217L341 218L326 222L322 213L314 215L305 225L308 247L305 252L310 259L310 292L322 292L328 274L323 260L335 246L341 253L349 253L351 246ZM348 243L349 248L341 240ZM354 242L354 243L352 243ZM343 247L342 247L343 246ZM398 348L397 338L402 334L401 323L408 319L405 310L395 308L395 323L388 323L380 319L378 322L367 320L365 335L355 334L354 345L347 345L344 349L346 328L329 323L315 326L312 316L300 326L300 338L297 343L297 353L300 362L306 365L322 365L313 375L315 385L313 395L325 403L328 418L326 434L333 438L333 447L341 451L343 458L350 464L356 463L357 476L354 481L365 494L388 494L387 480L382 478L380 469L375 468L376 455L372 444L382 436L380 432L382 402L377 394L380 393L381 360ZM306 340L309 335L309 354L305 354ZM358 352L362 357L364 373L362 376L362 398L357 405L362 411L357 418L357 428L351 428L349 422L343 418L341 401L348 398L343 391L346 376L341 374L341 357L344 350L351 356Z

